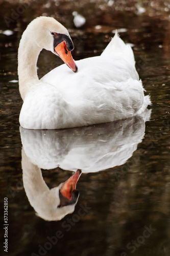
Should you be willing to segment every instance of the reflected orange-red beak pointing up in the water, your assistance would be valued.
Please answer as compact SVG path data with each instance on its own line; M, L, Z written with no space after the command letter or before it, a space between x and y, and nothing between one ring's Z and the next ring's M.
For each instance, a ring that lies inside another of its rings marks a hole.
M76 184L78 182L78 179L81 175L82 171L77 170L77 172L72 175L60 188L60 193L63 195L63 197L68 198L71 200L72 192L76 189Z

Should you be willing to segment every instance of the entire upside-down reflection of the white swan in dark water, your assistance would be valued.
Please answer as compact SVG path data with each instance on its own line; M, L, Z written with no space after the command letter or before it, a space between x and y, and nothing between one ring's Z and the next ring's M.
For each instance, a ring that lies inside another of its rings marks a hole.
M141 117L64 130L20 127L23 186L37 215L52 221L73 212L79 197L75 188L81 171L98 172L124 164L141 142L144 131L145 119ZM64 183L64 189L62 184L48 188L42 177L40 168L57 166L75 172Z

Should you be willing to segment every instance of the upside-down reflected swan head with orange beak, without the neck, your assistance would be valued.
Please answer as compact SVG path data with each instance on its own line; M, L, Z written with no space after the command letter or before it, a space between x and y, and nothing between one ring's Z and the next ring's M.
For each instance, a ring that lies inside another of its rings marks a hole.
M78 169L64 183L48 191L44 191L42 197L34 205L36 215L47 221L57 221L74 212L79 198L79 191L76 190L76 184L81 173L81 170Z

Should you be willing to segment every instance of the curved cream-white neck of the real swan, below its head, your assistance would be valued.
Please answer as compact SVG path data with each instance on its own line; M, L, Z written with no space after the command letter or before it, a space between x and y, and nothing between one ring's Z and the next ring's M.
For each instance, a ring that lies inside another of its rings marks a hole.
M30 40L33 38L26 31L22 34L18 48L19 92L23 100L30 88L39 81L37 59L42 50L34 41Z

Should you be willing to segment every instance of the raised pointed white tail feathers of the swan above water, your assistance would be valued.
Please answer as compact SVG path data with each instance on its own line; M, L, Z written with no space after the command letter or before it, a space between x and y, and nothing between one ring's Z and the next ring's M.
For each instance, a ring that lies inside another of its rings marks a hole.
M135 66L132 48L125 44L125 42L119 37L117 31L101 56L122 56L125 60L131 63L131 65Z

